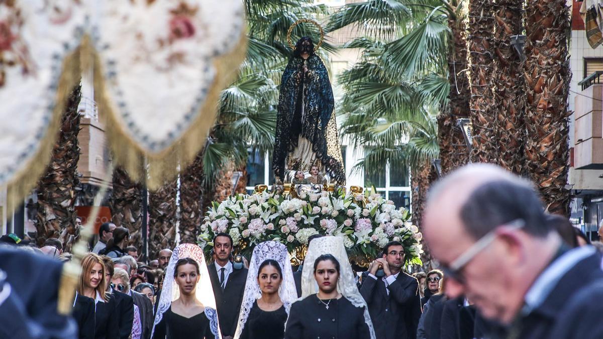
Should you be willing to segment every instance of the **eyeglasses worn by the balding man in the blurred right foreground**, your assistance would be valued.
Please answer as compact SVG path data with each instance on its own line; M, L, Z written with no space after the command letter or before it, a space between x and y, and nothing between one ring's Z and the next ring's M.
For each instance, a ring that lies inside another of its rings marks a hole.
M507 228L509 230L517 230L525 226L525 221L523 219L516 219L494 227L494 229L490 230L490 232L486 233L486 235L482 236L482 238L470 246L469 249L465 250L465 252L459 255L458 258L450 262L449 265L442 265L441 270L444 271L444 276L464 283L465 279L461 271L467 264L469 264L470 261L473 260L473 258L475 258L476 255L485 250L485 248L488 247L491 242L494 241L494 239L496 239L496 229L502 226L508 226Z

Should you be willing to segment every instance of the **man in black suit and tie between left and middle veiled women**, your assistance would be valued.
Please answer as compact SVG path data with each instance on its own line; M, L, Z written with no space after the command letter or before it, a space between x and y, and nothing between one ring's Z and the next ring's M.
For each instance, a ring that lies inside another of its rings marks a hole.
M233 250L232 238L227 233L218 233L213 238L216 261L207 266L212 280L213 294L218 307L220 331L224 339L232 339L239 322L239 311L247 282L247 268L235 269L230 262ZM241 263L242 264L242 263Z

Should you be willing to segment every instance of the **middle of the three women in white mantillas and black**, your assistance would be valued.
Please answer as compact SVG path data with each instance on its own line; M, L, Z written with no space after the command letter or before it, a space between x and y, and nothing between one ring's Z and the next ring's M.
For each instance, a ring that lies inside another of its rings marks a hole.
M235 339L283 339L297 299L287 247L265 241L253 250Z

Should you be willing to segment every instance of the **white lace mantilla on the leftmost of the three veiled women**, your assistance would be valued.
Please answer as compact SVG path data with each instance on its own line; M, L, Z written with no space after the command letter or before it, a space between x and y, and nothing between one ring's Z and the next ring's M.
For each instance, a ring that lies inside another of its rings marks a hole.
M204 312L207 319L209 319L209 327L213 335L215 335L216 338L221 338L222 335L219 332L218 326L218 313L216 312L216 299L213 296L212 282L209 277L209 272L207 271L203 250L194 244L178 245L174 249L174 253L172 253L172 258L169 259L168 269L165 271L165 280L163 280L163 289L161 291L159 305L157 306L157 314L155 315L155 321L153 323L151 338L153 338L155 326L157 326L163 318L163 313L168 311L172 302L180 297L180 290L174 280L174 270L176 262L183 258L191 258L194 261L197 261L197 264L199 265L200 278L197 283L195 296L205 308Z

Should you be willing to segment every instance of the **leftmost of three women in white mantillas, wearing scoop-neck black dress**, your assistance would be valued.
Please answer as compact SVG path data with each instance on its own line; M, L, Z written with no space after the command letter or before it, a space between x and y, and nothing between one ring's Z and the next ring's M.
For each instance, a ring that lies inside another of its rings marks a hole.
M204 291L198 290L198 285L201 285L201 288L205 286L200 284L202 272L199 264L201 260L204 263L204 259L202 257L195 259L189 257L179 258L191 252L202 256L201 249L193 244L180 245L172 253L166 271L166 280L163 285L159 308L157 309L153 338L219 338L215 308L210 308L200 300L211 292L207 288ZM204 266L203 270L203 275L207 276L207 267ZM168 276L168 274L170 275ZM173 277L173 280L168 279L170 276ZM177 288L173 286L174 283ZM211 299L213 300L213 294Z

